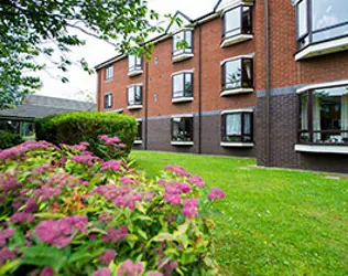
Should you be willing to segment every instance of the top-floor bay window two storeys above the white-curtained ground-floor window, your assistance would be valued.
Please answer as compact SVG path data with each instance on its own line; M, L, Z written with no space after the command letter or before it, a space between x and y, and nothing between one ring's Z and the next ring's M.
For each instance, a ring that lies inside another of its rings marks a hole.
M222 44L228 46L252 38L251 7L240 6L224 13Z

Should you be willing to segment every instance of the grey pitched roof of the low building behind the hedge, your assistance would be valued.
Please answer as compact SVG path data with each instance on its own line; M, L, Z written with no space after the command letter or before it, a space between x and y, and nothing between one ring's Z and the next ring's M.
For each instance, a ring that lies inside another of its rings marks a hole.
M30 95L26 97L26 104L20 105L15 109L0 110L0 117L41 118L55 114L96 109L97 106L94 103Z

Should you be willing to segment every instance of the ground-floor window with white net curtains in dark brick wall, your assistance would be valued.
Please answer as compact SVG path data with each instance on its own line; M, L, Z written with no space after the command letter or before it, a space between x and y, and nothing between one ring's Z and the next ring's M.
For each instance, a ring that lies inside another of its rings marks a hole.
M252 112L231 112L222 114L221 141L252 142Z

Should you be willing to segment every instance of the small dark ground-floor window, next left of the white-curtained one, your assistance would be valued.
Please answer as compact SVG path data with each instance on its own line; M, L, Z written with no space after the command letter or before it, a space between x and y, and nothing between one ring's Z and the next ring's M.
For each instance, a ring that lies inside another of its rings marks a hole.
M172 118L172 141L194 140L194 118L175 117Z

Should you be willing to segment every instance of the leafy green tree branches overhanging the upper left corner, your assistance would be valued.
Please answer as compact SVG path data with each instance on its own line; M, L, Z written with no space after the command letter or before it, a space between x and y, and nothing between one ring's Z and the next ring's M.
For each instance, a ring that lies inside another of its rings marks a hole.
M149 55L149 34L162 31L151 24L157 19L146 0L1 0L0 108L41 86L35 72L47 66L37 62L41 55L63 72L78 64L93 73L84 59L66 55L85 43L74 30L105 40L120 53Z

